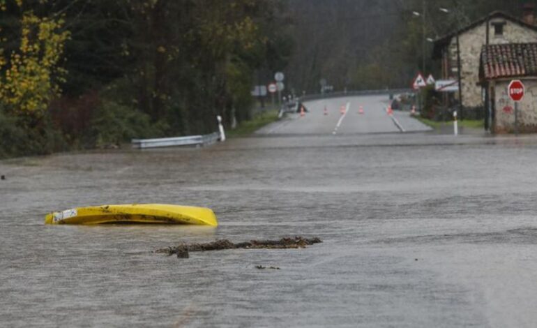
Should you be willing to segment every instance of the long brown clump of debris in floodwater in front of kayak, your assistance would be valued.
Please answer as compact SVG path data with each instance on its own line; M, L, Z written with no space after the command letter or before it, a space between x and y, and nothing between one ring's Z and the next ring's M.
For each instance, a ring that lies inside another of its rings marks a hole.
M165 253L168 256L176 254L178 258L188 258L189 252L220 251L235 248L305 248L306 246L321 242L321 239L317 237L304 238L301 236L285 237L279 240L250 240L236 244L227 239L220 239L217 241L211 241L210 243L179 244L178 246L174 247L160 248L156 250L155 253ZM257 269L264 269L264 267L258 267Z

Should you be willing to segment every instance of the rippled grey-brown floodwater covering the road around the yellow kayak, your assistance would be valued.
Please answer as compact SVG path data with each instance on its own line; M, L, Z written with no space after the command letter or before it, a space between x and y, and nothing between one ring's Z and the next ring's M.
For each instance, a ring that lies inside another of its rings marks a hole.
M537 137L341 129L1 161L2 326L534 327ZM43 225L130 202L220 226ZM295 234L324 242L151 253Z

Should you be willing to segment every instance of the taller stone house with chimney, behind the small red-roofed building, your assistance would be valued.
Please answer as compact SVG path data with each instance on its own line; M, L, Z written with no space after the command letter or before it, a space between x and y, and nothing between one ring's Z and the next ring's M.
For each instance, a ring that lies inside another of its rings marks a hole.
M494 11L480 20L457 29L434 42L433 59L441 60L441 78L458 80L457 36L460 50L461 98L464 117L483 117L479 82L479 61L483 45L537 42L534 6L524 6L523 19ZM487 28L488 27L488 28ZM458 93L454 96L458 98Z

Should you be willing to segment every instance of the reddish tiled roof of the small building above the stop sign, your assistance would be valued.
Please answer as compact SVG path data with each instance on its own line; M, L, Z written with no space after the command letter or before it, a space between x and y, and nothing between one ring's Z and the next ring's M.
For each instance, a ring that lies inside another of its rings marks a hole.
M536 76L537 43L483 45L479 65L481 79Z

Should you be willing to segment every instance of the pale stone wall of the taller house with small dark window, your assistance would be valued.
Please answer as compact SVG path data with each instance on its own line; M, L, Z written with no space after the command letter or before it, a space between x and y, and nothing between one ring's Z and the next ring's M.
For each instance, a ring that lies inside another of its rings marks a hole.
M493 22L505 22L504 34L494 36ZM481 49L486 43L487 23L469 29L459 36L460 62L462 77L462 105L464 107L483 107L483 96L479 82L479 59ZM490 20L489 43L529 43L537 42L537 31L522 27L522 25L510 20L491 18ZM451 76L457 79L457 40L451 39L449 46L449 58Z

